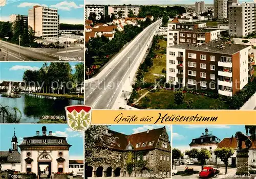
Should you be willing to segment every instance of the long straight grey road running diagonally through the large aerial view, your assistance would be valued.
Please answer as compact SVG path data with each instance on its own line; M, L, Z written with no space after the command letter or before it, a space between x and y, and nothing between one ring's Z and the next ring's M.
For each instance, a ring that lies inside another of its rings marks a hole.
M94 109L112 108L124 81L130 77L131 67L139 63L138 57L141 55L142 46L148 42L160 23L161 21L157 21L151 28L141 32L144 34L136 37L135 45L128 49L127 53L110 70L106 71L101 79L86 84L84 94L86 105L92 106Z

